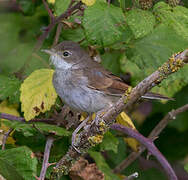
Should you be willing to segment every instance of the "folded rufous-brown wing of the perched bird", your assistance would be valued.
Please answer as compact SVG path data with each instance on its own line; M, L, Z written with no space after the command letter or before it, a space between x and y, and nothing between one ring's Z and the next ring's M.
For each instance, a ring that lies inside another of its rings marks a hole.
M104 91L110 95L121 96L129 87L119 77L102 67L94 67L91 70L86 68L84 75L88 77L90 88Z

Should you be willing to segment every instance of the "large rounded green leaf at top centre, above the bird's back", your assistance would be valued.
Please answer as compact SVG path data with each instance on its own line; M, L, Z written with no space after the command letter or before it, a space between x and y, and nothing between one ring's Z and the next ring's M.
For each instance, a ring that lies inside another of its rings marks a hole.
M121 8L96 2L84 11L83 27L91 44L108 46L122 38L125 17Z

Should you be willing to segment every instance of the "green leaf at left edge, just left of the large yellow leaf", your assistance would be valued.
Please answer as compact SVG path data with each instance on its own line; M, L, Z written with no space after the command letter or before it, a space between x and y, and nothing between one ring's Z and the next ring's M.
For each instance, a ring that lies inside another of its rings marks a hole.
M0 75L0 99L4 100L8 97L11 103L18 103L20 85L21 82L14 76Z

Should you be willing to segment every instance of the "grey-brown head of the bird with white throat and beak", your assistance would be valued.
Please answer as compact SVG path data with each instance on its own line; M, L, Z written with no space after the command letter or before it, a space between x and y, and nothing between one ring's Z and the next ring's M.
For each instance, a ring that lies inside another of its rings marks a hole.
M78 43L63 41L50 50L43 50L50 54L52 64L56 69L66 70L87 64L90 59L88 53Z

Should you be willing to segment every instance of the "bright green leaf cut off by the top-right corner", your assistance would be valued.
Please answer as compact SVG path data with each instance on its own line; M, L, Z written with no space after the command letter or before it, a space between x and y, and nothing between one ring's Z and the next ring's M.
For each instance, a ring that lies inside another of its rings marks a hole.
M188 9L183 6L170 7L164 2L157 3L153 11L158 20L176 31L183 38L188 38Z

